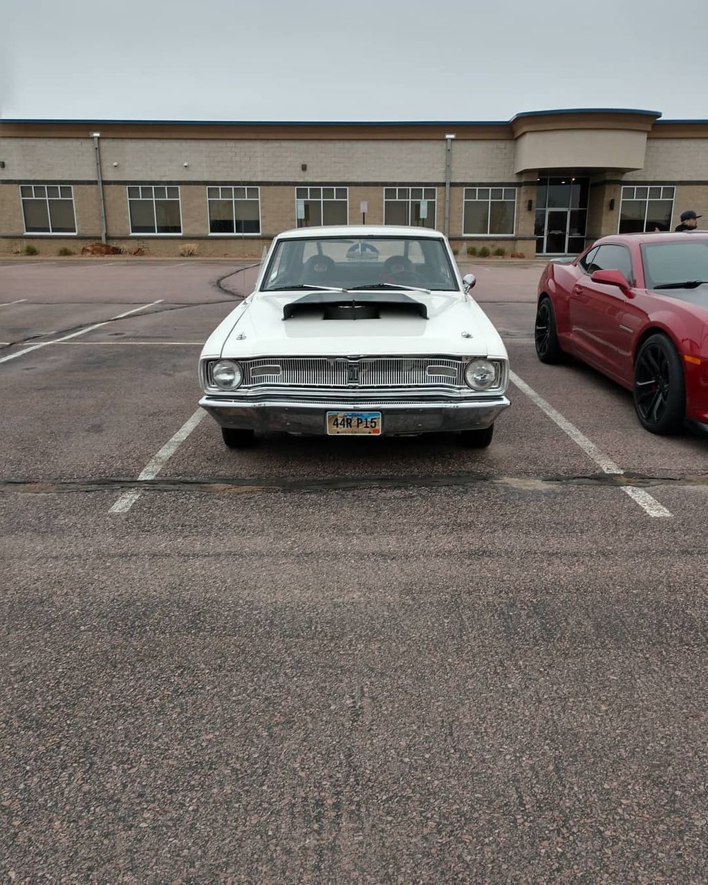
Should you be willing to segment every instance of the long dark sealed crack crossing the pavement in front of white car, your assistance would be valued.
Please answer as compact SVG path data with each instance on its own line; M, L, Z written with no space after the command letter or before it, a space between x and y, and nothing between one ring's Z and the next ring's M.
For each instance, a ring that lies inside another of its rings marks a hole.
M286 477L234 477L83 480L0 480L0 494L53 495L65 492L102 492L144 489L158 492L192 491L239 494L266 491L342 491L361 489L440 489L469 486L504 486L519 491L548 491L563 486L651 488L655 486L708 486L708 473L652 476L645 473L577 473L573 475L510 476L450 473L442 476L371 476L358 478L288 479Z

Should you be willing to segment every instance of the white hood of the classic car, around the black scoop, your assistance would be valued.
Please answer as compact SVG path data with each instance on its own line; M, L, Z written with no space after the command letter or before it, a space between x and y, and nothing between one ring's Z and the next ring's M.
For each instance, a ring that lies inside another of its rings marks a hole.
M413 302L424 305L416 315L402 312L396 304L386 304L389 294L381 293L377 319L322 319L321 313L312 312L295 312L284 319L286 305L303 299L304 293L259 292L219 324L204 345L202 356L238 359L449 353L506 357L504 342L472 298L458 292L428 295L405 291Z

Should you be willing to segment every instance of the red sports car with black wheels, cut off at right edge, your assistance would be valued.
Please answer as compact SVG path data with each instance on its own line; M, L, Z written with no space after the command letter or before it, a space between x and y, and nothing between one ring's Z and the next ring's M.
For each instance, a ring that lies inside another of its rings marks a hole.
M708 232L605 236L538 284L543 363L572 354L635 395L643 427L708 429Z

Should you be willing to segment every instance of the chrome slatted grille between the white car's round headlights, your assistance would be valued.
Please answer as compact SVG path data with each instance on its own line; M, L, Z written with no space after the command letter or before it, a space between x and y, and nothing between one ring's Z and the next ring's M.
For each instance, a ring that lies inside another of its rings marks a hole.
M446 357L308 357L242 361L243 385L289 388L464 387L463 363ZM280 372L266 370L280 366Z

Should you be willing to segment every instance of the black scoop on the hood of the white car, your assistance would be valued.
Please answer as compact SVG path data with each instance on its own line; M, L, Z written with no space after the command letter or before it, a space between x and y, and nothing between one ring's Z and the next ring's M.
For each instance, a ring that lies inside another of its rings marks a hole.
M311 292L285 304L282 318L380 319L381 308L427 319L427 305L404 292Z

